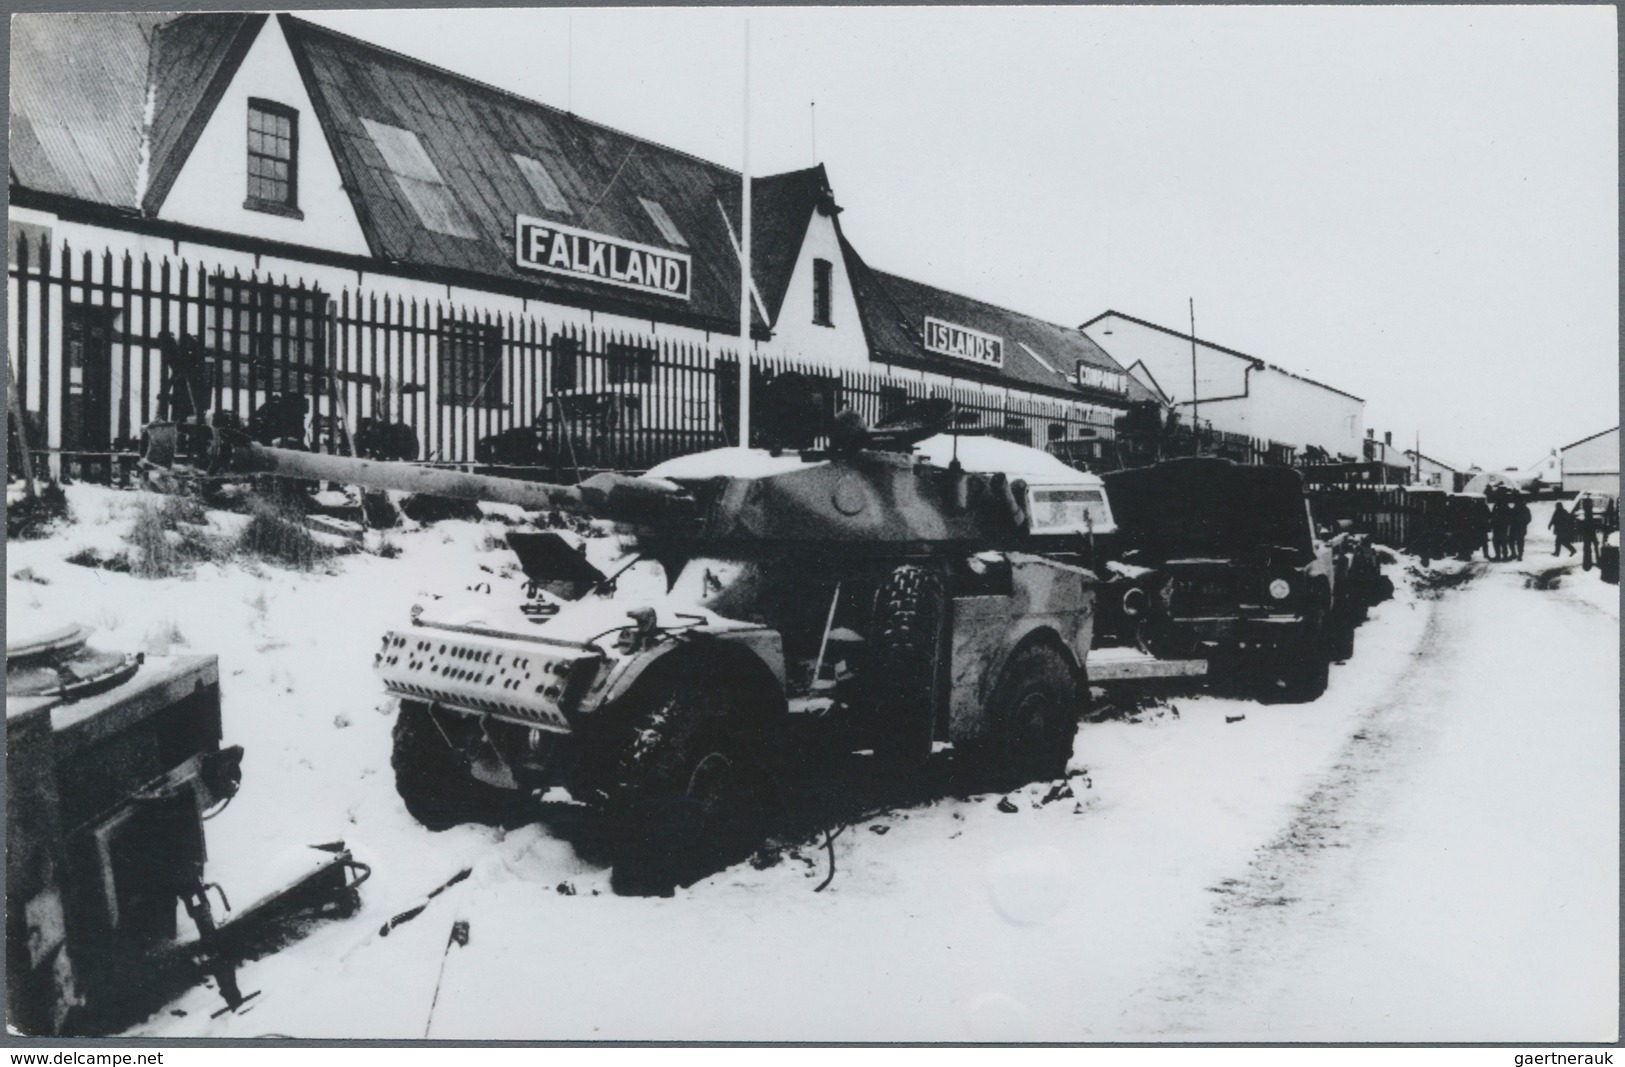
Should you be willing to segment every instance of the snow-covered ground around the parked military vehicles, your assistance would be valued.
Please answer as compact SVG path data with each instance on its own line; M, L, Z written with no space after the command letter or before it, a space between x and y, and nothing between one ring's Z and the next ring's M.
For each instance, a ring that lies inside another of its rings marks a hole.
M819 833L658 900L614 896L559 820L429 833L395 796L379 635L432 590L517 594L499 523L315 575L65 562L115 551L136 499L75 487L72 526L8 546L8 637L83 620L104 648L218 654L247 757L208 823L211 877L247 900L332 840L374 877L358 916L242 968L262 996L240 1013L213 1018L198 987L132 1035L1617 1036L1618 588L1568 559L1547 573L1545 508L1524 562L1399 581L1313 705L1193 689L1084 724L1072 797L925 801L838 833L824 892Z

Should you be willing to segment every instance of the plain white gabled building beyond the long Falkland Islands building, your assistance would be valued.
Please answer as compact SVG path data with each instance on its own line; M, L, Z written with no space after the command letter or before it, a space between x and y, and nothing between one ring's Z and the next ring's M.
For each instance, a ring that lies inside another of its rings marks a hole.
M1199 338L1193 395L1188 333L1110 310L1081 330L1186 421L1194 408L1204 424L1250 438L1259 451L1346 463L1365 458L1365 401L1358 396Z

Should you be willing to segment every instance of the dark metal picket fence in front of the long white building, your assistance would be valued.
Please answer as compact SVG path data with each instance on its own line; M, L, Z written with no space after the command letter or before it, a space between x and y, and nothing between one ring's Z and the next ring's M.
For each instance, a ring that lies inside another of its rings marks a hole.
M18 239L8 351L32 450L106 477L141 427L213 411L262 440L538 476L647 469L738 438L738 344L549 323L162 257ZM1045 447L1110 438L1113 413L752 354L868 422L946 396L960 426ZM756 437L752 434L752 437Z

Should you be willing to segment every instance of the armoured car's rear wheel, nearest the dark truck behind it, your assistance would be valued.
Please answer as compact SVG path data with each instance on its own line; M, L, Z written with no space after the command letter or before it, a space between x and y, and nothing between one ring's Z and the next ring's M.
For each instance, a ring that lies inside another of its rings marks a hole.
M970 744L977 776L993 789L1066 775L1077 736L1077 680L1048 645L1027 645L1004 666L988 702L988 732Z

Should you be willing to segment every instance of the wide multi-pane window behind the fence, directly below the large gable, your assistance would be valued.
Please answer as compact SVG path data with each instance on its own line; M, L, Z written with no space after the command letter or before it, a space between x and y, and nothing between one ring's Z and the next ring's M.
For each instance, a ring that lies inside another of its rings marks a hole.
M318 289L210 278L203 344L223 388L304 393L327 351L327 296Z

